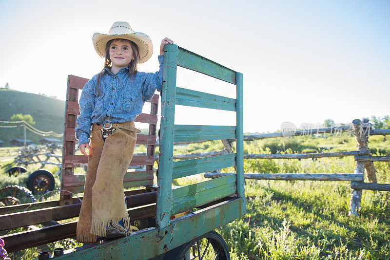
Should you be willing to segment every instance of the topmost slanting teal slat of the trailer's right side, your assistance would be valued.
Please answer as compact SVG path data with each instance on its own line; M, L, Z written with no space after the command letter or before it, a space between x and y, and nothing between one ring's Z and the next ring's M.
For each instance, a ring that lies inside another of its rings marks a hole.
M177 65L235 84L235 71L208 58L178 47Z

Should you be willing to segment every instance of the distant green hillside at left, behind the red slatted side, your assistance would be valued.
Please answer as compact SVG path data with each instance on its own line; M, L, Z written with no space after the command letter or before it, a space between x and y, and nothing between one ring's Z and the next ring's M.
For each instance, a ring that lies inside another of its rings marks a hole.
M43 95L25 93L10 89L0 89L0 120L10 121L13 114L31 114L36 124L35 128L42 131L55 131L62 133L64 128L65 101ZM0 126L10 125L0 123ZM38 144L43 136L26 130L27 139ZM53 136L47 136L54 138ZM23 128L0 128L0 140L4 146L9 146L9 141L15 138L23 138ZM62 138L59 138L62 139Z

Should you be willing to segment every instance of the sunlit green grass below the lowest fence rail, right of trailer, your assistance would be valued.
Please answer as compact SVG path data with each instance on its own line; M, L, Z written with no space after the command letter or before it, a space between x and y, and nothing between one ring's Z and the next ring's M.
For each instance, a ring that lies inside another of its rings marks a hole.
M347 183L247 180L245 191L247 215L218 230L232 259L390 257L387 193L363 191L355 218Z

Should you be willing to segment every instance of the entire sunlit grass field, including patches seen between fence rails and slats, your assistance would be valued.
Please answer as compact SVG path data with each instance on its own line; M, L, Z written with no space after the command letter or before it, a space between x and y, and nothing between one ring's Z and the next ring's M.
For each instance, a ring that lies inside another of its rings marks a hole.
M390 141L383 136L370 137L369 147L373 153L390 153ZM144 149L140 147L137 151ZM223 149L223 145L213 141L177 146L175 153L217 149ZM339 151L355 150L356 143L353 136L303 136L245 142L244 149L245 153ZM378 182L389 184L390 163L375 162L374 166ZM353 169L353 157L244 161L245 172L352 173ZM23 185L22 178L4 176L1 171L1 183L5 179ZM202 174L197 174L174 180L174 184L184 186L205 180ZM227 241L232 260L390 259L389 192L364 190L359 217L349 217L350 192L348 182L247 180L247 215L217 231ZM33 259L39 250L58 246L68 249L78 243L72 239L58 241L20 251L11 255L11 259Z

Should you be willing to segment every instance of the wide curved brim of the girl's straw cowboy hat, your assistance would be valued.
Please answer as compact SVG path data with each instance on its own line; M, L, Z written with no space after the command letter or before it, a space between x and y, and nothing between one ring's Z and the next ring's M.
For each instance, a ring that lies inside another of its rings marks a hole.
M92 37L95 51L100 57L104 57L104 50L107 42L112 39L131 40L138 46L140 63L147 61L153 54L152 40L144 33L129 33L129 34L99 34L95 33Z

